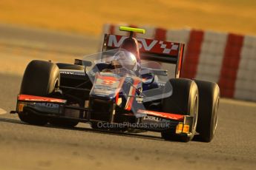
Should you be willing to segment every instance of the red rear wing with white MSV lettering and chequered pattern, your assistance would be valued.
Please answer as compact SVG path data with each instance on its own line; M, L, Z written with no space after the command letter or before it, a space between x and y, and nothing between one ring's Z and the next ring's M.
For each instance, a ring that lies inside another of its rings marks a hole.
M102 52L119 48L125 38L128 38L128 36L105 34ZM185 44L147 38L136 39L139 43L140 58L142 60L176 64L175 77L180 77Z

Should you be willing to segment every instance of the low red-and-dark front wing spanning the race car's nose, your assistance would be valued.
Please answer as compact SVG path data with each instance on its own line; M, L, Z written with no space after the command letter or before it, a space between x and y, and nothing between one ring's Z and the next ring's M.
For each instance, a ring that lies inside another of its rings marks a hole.
M66 114L73 110L76 114ZM91 120L88 116L88 108L79 106L68 106L67 101L59 98L45 98L33 95L18 95L16 111L19 114L26 114L27 112L35 115L40 115L48 118L66 118L70 120L78 120L79 122L97 122L99 120ZM129 119L123 119L129 117ZM131 118L132 117L132 118ZM116 114L116 122L122 123L131 129L145 129L154 132L163 132L171 130L177 135L191 135L191 127L193 117L188 115L171 114L165 112L154 112L149 110L139 109L134 114ZM125 120L131 120L126 121ZM106 122L108 123L108 122Z

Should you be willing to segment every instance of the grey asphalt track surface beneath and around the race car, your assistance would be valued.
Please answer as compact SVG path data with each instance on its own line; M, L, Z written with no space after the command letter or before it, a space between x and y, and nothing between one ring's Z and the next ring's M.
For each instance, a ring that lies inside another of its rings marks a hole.
M10 36L17 33L11 27L1 29L7 29ZM0 38L4 35L0 32ZM0 52L0 58L5 55ZM0 73L1 109L15 109L21 80L20 74ZM256 168L256 103L221 99L217 133L211 143L168 142L153 132L97 132L82 123L74 129L32 126L17 115L1 114L1 109L0 169Z

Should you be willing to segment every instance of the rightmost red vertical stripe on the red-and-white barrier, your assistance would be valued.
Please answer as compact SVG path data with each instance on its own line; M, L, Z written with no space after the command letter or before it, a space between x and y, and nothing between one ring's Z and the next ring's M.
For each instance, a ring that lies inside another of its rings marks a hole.
M243 38L243 35L229 34L228 36L219 80L220 93L223 97L234 97Z

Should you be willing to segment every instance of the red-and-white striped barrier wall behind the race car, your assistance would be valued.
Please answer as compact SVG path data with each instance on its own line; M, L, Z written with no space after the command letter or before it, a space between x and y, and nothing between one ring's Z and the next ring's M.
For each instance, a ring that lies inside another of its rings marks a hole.
M119 26L105 24L104 33L127 35ZM155 38L186 44L183 78L217 82L222 97L256 101L256 36L204 30L165 30L143 27L140 38Z

